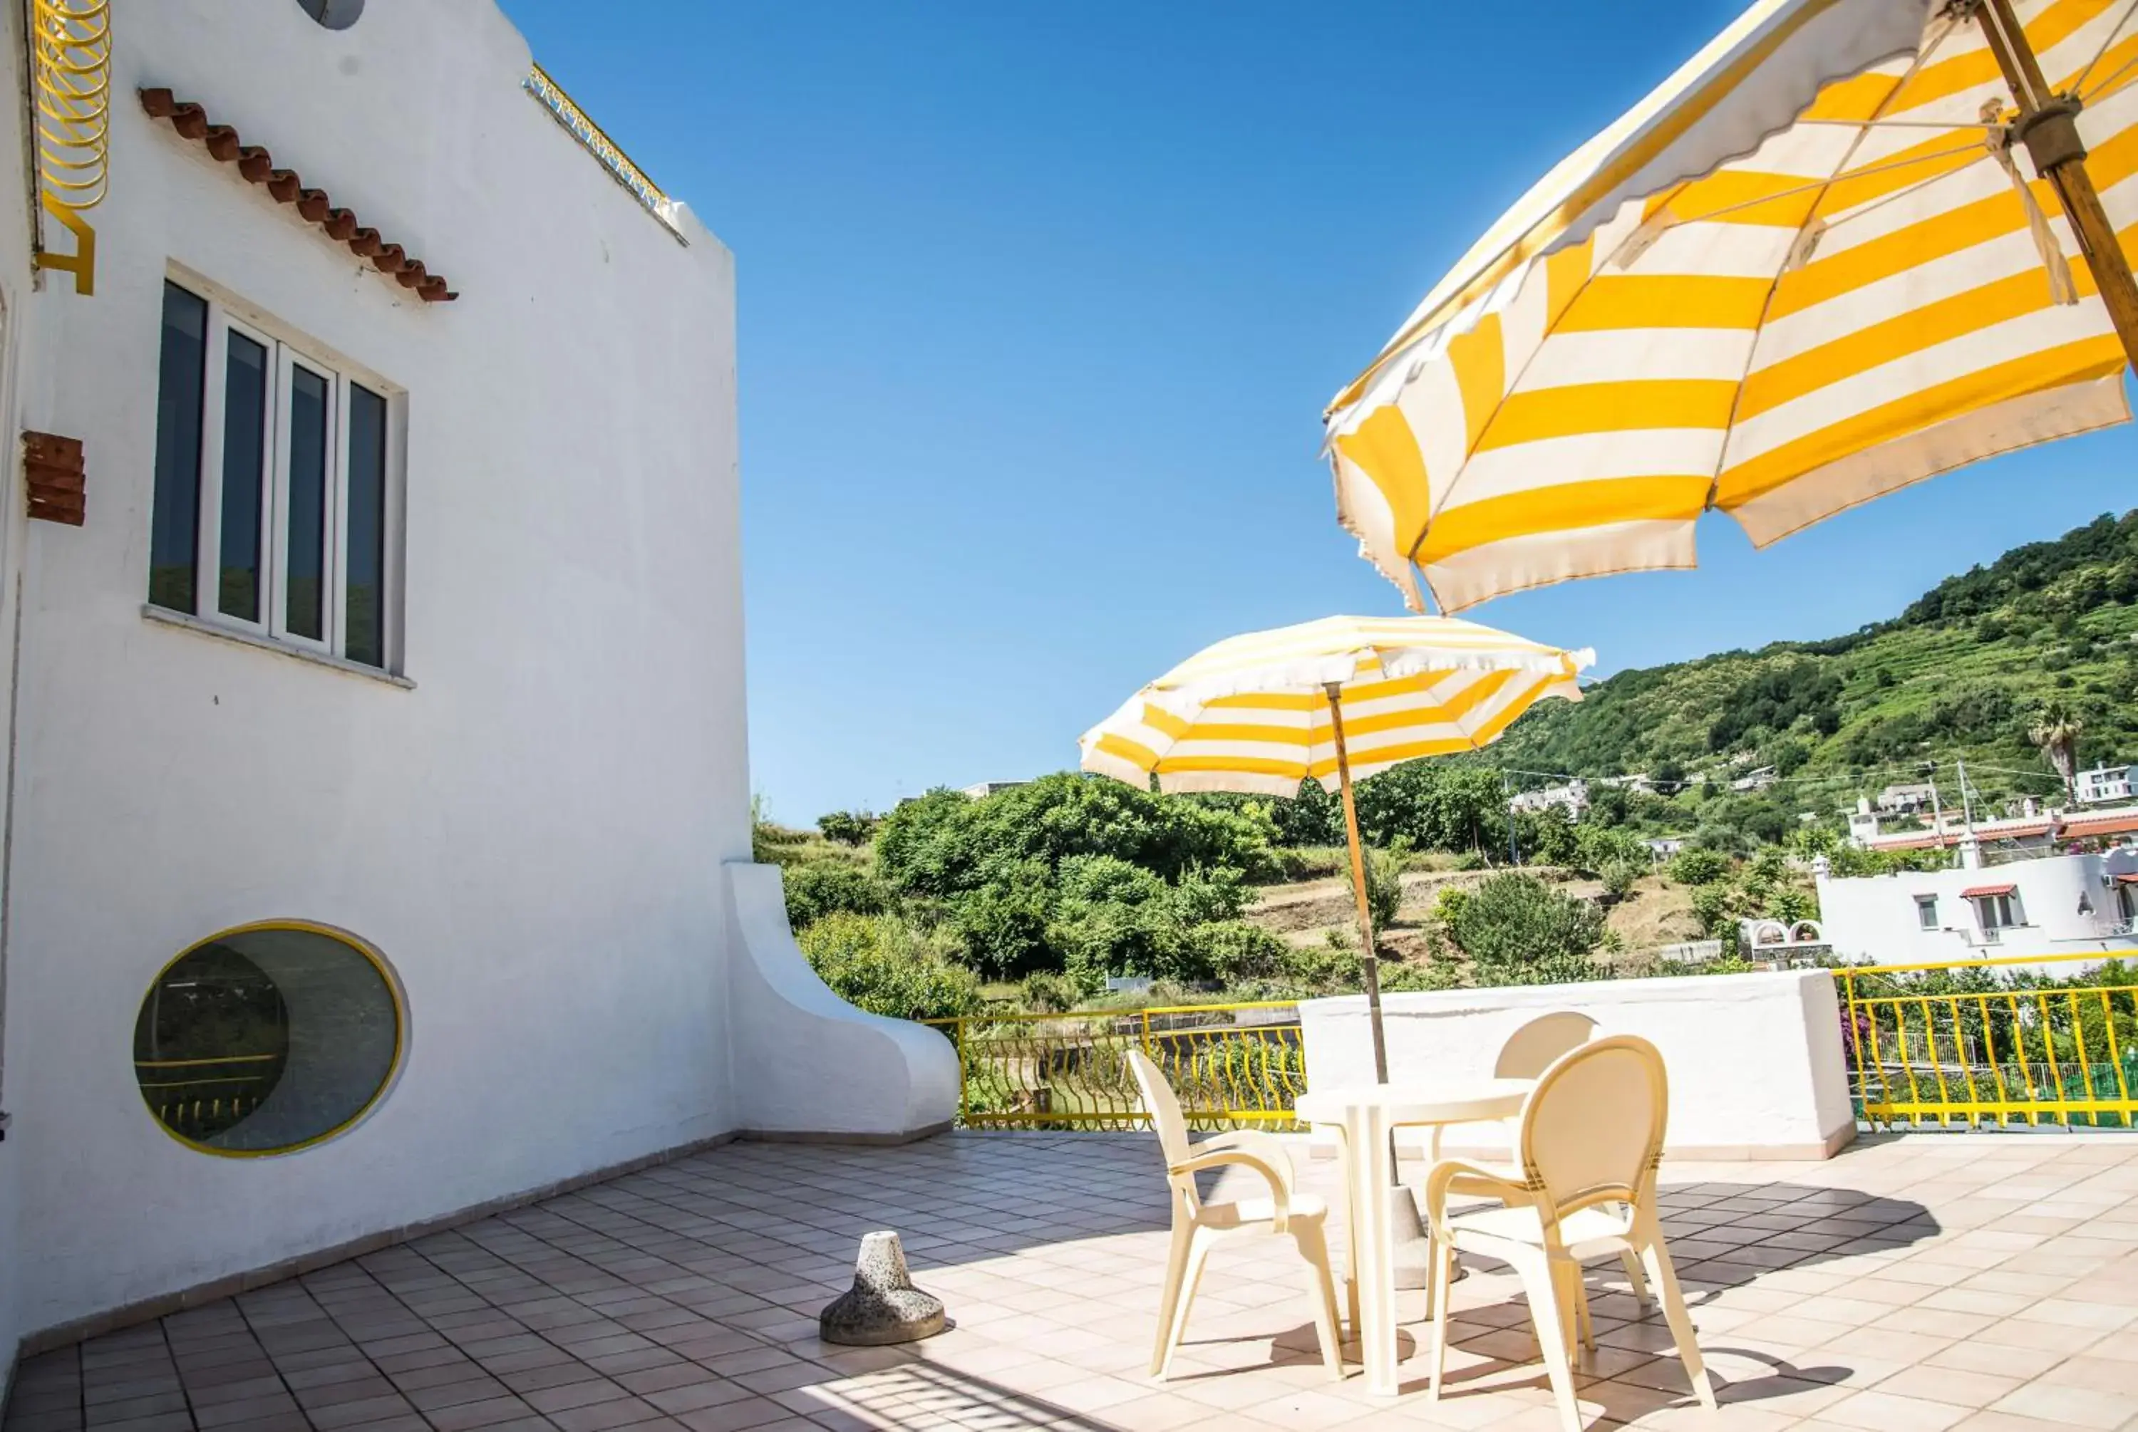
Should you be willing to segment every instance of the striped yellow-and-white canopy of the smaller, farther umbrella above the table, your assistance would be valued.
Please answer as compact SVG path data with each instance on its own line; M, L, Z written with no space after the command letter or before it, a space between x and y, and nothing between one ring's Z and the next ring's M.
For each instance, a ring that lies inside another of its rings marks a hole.
M1475 750L1546 697L1580 701L1593 652L1439 616L1332 616L1197 652L1084 733L1084 769L1165 791L1338 789L1330 684L1353 776Z

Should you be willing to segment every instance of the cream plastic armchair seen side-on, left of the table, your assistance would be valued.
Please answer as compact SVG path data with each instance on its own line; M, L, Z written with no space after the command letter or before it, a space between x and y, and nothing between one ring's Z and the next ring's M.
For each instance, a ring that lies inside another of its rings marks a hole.
M1321 1361L1343 1379L1343 1340L1336 1332L1336 1285L1330 1278L1328 1205L1291 1188L1291 1156L1276 1135L1255 1129L1221 1133L1189 1143L1180 1101L1159 1067L1142 1049L1129 1049L1129 1069L1144 1094L1144 1111L1165 1150L1165 1182L1174 1188L1174 1240L1165 1259L1165 1291L1159 1295L1159 1340L1150 1353L1150 1374L1165 1376L1189 1325L1189 1304L1202 1282L1210 1248L1234 1238L1289 1235L1306 1261L1306 1295L1313 1302ZM1227 1163L1244 1165L1270 1184L1266 1199L1204 1203L1195 1176Z

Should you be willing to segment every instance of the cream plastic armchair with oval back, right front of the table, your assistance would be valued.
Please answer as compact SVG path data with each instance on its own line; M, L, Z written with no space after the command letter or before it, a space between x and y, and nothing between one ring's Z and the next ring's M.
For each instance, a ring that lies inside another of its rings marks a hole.
M1715 1408L1655 1208L1668 1109L1663 1056L1646 1039L1614 1034L1561 1056L1537 1079L1516 1137L1520 1173L1460 1158L1432 1167L1426 1178L1426 1218L1437 1250L1428 1400L1441 1396L1447 1361L1447 1252L1479 1252L1505 1261L1522 1278L1559 1421L1565 1432L1580 1432L1569 1344L1578 1336L1595 1347L1582 1261L1616 1252L1646 1263L1693 1394ZM1450 1214L1447 1197L1458 1182L1503 1205Z

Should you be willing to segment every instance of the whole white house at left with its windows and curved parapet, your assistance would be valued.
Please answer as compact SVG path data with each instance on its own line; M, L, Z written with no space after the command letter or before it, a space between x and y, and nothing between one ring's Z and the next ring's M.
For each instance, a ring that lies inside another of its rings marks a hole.
M0 1376L947 1120L947 1041L834 1000L746 863L729 252L492 0L113 9L86 214L0 28L0 413L81 445L0 474Z

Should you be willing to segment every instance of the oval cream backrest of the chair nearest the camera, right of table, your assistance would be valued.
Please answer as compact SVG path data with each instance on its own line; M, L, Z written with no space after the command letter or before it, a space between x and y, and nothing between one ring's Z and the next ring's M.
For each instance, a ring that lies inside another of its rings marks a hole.
M1522 1105L1522 1171L1561 1216L1591 1203L1636 1203L1663 1154L1670 1084L1646 1039L1584 1043L1537 1077Z

